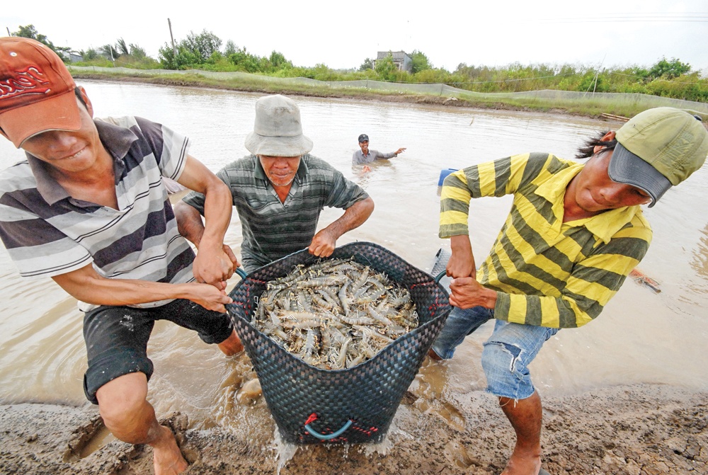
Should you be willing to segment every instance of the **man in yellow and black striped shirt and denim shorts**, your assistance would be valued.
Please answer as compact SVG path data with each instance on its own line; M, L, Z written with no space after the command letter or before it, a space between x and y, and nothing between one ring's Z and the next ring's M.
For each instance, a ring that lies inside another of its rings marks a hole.
M526 154L471 166L445 179L440 237L450 238L450 313L433 343L435 360L489 319L481 356L487 391L516 433L503 475L541 469L542 406L528 365L559 328L595 319L644 257L651 228L640 205L656 204L702 166L708 132L675 108L646 110L617 132L586 143L577 158ZM469 200L513 195L513 207L477 272L469 241Z

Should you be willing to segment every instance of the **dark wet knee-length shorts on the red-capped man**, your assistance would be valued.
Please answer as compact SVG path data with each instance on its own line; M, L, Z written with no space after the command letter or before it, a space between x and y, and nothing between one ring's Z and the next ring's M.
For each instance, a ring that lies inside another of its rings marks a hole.
M147 357L147 340L156 320L169 320L197 331L205 343L221 343L233 329L227 314L185 299L152 309L103 306L88 311L84 315L84 341L89 369L84 374L84 393L89 401L98 404L98 388L123 374L143 372L150 379L153 366Z

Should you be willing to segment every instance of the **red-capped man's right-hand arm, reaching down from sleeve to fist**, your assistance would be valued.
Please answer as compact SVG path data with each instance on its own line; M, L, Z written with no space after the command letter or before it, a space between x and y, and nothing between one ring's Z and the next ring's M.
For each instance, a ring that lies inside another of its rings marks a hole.
M197 241L190 239L198 247L197 257L193 264L194 277L198 282L206 282L219 289L224 289L226 280L234 273L232 259L223 248L224 234L231 223L231 190L193 156L187 156L187 164L178 182L205 196L204 218L206 224L201 225L201 218L198 216L201 226L200 236ZM193 220L190 223L195 225ZM180 223L179 217L177 224L182 233L183 224ZM187 226L189 227L189 224ZM193 231L198 231L198 229L193 229Z

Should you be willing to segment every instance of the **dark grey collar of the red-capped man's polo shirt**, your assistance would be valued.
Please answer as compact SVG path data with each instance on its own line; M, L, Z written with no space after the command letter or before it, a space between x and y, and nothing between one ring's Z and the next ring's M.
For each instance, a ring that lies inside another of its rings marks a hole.
M94 119L93 123L96 124L98 137L101 137L103 147L105 147L110 153L110 156L113 157L115 183L118 184L125 170L125 164L122 159L125 158L132 143L137 140L137 136L130 129L103 122L102 120ZM64 190L64 187L59 185L50 175L49 165L27 152L25 152L25 156L27 156L30 169L35 176L37 190L49 205L54 205L59 200L64 200L64 198L69 198L67 190Z

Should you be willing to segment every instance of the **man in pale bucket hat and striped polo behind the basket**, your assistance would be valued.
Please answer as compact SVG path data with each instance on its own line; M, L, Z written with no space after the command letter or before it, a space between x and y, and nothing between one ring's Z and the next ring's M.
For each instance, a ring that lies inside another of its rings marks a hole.
M374 202L359 185L326 161L310 155L312 140L302 135L300 111L285 96L256 101L256 123L246 149L251 155L224 166L217 176L229 185L243 231L241 261L251 272L278 258L308 248L331 256L337 239L359 227ZM324 207L345 211L316 232ZM199 246L204 197L190 193L175 206L183 236Z

